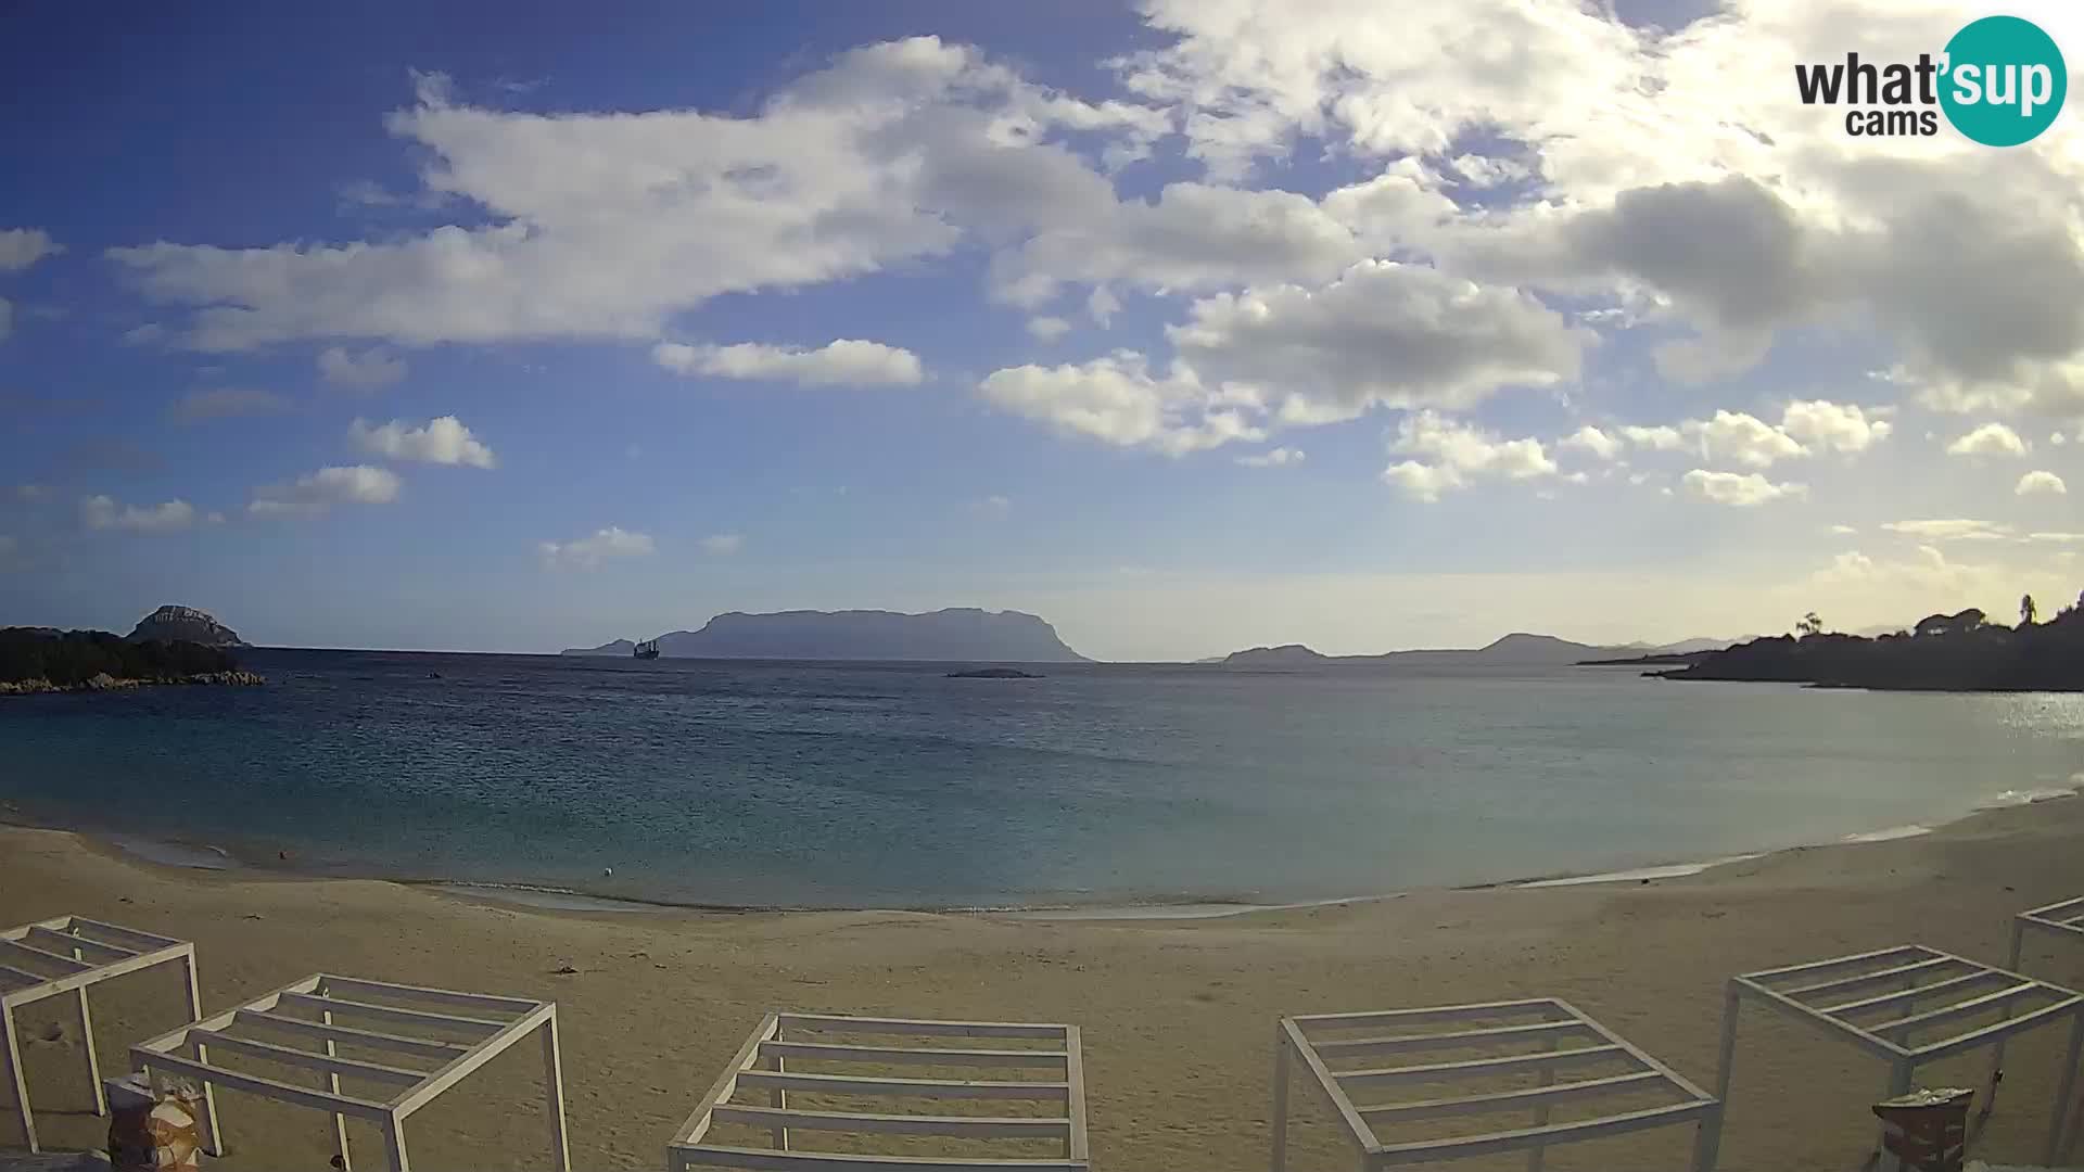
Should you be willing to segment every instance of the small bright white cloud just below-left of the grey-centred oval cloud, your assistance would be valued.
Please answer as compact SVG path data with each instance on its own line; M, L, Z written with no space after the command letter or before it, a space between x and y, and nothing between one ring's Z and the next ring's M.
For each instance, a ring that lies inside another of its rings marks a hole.
M1263 409L1248 388L1207 388L1184 365L1152 375L1144 357L1132 350L1082 365L998 369L977 384L977 392L1067 436L1173 457L1265 438L1248 417Z

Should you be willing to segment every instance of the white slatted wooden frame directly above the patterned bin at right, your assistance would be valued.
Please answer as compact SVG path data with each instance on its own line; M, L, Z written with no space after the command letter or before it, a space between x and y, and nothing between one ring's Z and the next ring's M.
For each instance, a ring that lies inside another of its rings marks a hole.
M2063 1137L2069 1095L2076 1091L2078 1057L2084 1053L2084 995L2059 984L1928 949L1901 945L1874 953L1773 968L1730 978L1721 1014L1721 1074L1717 1097L1730 1097L1730 1064L1736 1057L1736 1016L1744 1001L1757 1001L1796 1020L1821 1026L1888 1064L1888 1099L1911 1091L1919 1066L2003 1045L2011 1034L2069 1022L2069 1049L2055 1091L2055 1120L2049 1126L2046 1159L2055 1164ZM2040 1001L2019 1014L2021 1003ZM1984 1014L1996 1022L1974 1024ZM1957 1026L1938 1041L1911 1045L1911 1036L1932 1026ZM1990 1086L1994 1101L1996 1086ZM1990 1103L1984 1105L1988 1114ZM1899 1162L1882 1153L1884 1172Z

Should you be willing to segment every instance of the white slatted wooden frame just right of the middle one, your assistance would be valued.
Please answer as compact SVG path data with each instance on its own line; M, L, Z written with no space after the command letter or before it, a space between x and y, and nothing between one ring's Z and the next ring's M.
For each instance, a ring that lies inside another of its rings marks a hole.
M1444 1026L1444 1028L1438 1028ZM1428 1028L1428 1032L1407 1032ZM1359 1030L1359 1032L1357 1032ZM1505 1053L1463 1061L1417 1061L1336 1070L1336 1061L1411 1055L1442 1049L1507 1047ZM1534 1047L1534 1049L1530 1049ZM1288 1082L1290 1064L1300 1061L1330 1099L1353 1143L1361 1172L1525 1151L1528 1168L1540 1172L1548 1145L1578 1143L1634 1130L1694 1124L1694 1168L1707 1172L1721 1130L1721 1103L1682 1074L1642 1053L1619 1034L1553 997L1492 1001L1484 1005L1436 1005L1378 1014L1315 1014L1282 1018L1273 1039L1273 1172L1288 1168ZM1623 1074L1557 1082L1571 1066L1623 1064ZM1378 1091L1409 1082L1453 1082L1534 1072L1536 1086L1459 1095L1403 1103L1357 1103L1357 1091ZM1628 1109L1611 1116L1553 1124L1550 1107L1588 1099L1661 1091L1678 1101ZM1498 1114L1515 1107L1534 1112L1534 1126L1486 1134L1398 1141L1386 1128L1442 1116ZM1707 1164L1703 1164L1707 1159Z

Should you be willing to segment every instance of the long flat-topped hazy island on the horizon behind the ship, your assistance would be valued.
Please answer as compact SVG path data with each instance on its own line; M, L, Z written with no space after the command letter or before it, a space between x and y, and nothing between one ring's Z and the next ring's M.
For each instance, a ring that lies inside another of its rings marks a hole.
M619 638L565 655L627 659L636 644ZM896 611L723 613L702 630L659 636L665 659L809 659L925 663L1090 663L1057 638L1057 628L1021 611L952 607L923 615Z

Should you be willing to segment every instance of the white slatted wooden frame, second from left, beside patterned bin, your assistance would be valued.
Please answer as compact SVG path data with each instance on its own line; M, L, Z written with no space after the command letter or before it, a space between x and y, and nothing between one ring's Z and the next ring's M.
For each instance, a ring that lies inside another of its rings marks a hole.
M352 1024L336 1024L336 1018ZM131 1061L146 1072L165 1070L194 1078L202 1082L204 1093L210 1086L227 1086L331 1114L333 1149L340 1155L342 1172L352 1170L346 1116L369 1120L383 1130L386 1166L392 1172L411 1172L404 1120L538 1030L542 1032L550 1155L559 1172L571 1172L571 1151L565 1141L565 1078L556 1051L556 1001L315 974L238 1009L131 1047ZM323 1043L325 1049L298 1049L288 1039ZM342 1047L381 1051L386 1057L381 1061L340 1057ZM210 1049L313 1070L323 1076L323 1082L321 1089L313 1091L229 1070L210 1061ZM421 1066L406 1066L411 1061ZM350 1095L342 1091L344 1078L381 1086L388 1095L383 1091ZM217 1134L215 1118L210 1134Z

